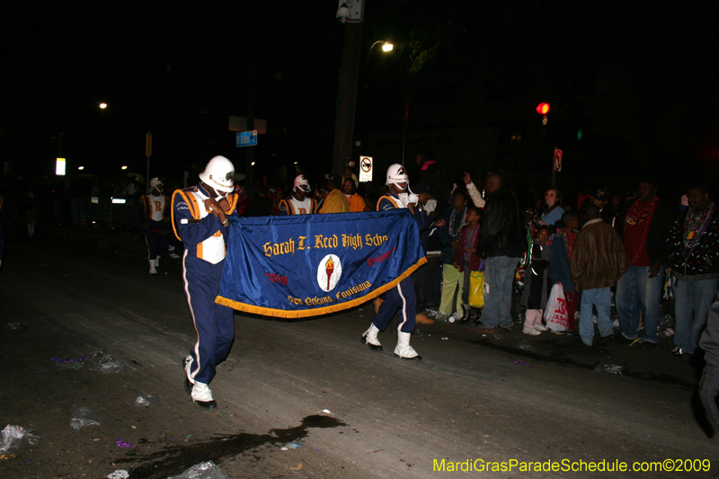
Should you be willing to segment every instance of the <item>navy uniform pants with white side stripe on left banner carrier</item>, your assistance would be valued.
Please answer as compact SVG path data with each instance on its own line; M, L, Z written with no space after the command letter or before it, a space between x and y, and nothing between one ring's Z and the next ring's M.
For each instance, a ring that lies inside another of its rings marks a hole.
M215 303L224 264L199 260L187 250L182 256L182 282L197 332L190 376L204 384L215 377L217 364L227 358L235 339L232 308Z

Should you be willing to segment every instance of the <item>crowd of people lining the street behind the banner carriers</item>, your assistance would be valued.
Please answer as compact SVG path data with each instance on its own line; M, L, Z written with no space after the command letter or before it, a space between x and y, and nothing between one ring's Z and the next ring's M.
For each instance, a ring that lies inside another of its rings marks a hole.
M181 186L168 179L164 194ZM240 181L235 192L244 216L359 214L376 210L385 188L359 183L348 170L324 178L299 175L291 187L263 178L252 191ZM659 180L644 175L635 191L602 185L570 200L548 187L537 198L523 194L519 200L499 174L477 185L470 174L452 179L441 164L418 155L410 189L423 215L445 221L421 232L428 262L414 273L417 313L428 322L485 332L512 328L521 318L522 333L537 336L547 331L550 291L561 284L565 333L578 334L588 346L640 342L652 349L662 298L670 297L664 304L674 306L671 352L692 354L719 289L719 219L706 185L688 185L680 201L661 198L660 188ZM36 226L41 233L44 226L77 225L79 205L88 198L131 200L145 189L134 176L100 182L89 175L25 180L6 174L0 184L4 238L32 237ZM481 307L469 300L475 271L484 271Z

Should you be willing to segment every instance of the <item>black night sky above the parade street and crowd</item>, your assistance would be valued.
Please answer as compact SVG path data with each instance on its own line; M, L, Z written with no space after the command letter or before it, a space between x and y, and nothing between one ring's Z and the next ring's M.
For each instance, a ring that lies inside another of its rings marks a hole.
M374 40L404 29L438 46L413 76L415 91L466 67L491 73L502 58L519 69L556 75L573 64L611 64L635 79L635 116L650 157L663 168L719 162L715 81L715 6L679 2L493 3L367 0L356 130L383 111L361 88ZM247 50L256 40L256 117L271 132L258 162L300 160L328 169L333 148L341 24L337 3L262 3L253 22L247 2L224 8L152 2L134 7L35 4L5 7L2 20L0 154L16 173L51 173L59 132L70 166L90 173L120 164L145 170L144 137L154 134L153 164L177 175L211 155L228 155L242 171L227 117L247 111ZM392 75L377 67L376 83ZM470 81L467 76L465 81ZM376 89L377 90L377 89ZM379 100L395 90L379 89ZM416 92L415 92L416 93ZM521 98L522 102L534 101ZM96 104L109 103L106 111ZM366 101L366 102L365 102ZM373 111L367 111L371 105ZM364 110L362 110L364 108ZM607 108L612 108L610 105ZM388 117L387 117L388 118ZM387 125L392 125L388 122ZM684 157L679 157L684 155Z

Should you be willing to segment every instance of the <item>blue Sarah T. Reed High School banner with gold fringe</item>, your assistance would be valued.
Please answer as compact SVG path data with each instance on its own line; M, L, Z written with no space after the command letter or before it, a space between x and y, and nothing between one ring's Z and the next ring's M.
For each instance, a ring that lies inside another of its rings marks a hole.
M370 213L230 217L216 302L278 317L358 306L427 260L407 209Z

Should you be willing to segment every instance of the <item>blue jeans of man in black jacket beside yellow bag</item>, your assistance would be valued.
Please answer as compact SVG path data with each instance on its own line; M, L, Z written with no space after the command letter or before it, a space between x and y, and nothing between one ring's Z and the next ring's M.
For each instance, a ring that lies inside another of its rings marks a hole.
M512 282L517 271L519 258L493 256L487 258L484 266L484 308L482 325L494 328L498 324L509 328L511 321L511 302L514 299Z

